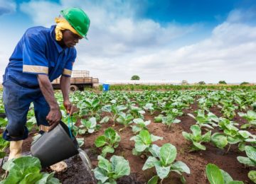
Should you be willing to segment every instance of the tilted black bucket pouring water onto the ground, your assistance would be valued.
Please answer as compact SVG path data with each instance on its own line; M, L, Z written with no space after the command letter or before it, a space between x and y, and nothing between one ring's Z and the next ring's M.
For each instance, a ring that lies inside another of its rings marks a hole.
M41 161L46 168L78 154L78 142L70 137L69 129L61 122L50 132L45 132L31 146L31 155Z

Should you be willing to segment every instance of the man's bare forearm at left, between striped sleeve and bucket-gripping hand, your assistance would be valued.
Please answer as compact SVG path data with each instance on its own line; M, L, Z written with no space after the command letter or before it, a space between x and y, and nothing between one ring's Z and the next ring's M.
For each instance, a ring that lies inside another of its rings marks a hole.
M46 101L48 105L50 106L50 109L58 109L58 103L54 97L54 91L53 86L50 84L50 80L48 76L46 75L38 75L38 83L40 86L40 89L43 93L44 98L46 98Z

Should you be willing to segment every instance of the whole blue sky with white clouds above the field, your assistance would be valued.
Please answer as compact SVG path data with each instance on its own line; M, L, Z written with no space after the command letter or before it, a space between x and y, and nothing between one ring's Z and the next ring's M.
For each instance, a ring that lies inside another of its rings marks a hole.
M70 6L91 19L74 69L90 70L102 82L134 74L144 80L256 82L254 0L0 0L0 73L27 28L50 27Z

